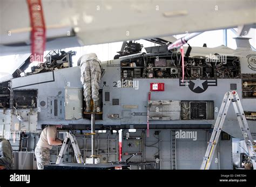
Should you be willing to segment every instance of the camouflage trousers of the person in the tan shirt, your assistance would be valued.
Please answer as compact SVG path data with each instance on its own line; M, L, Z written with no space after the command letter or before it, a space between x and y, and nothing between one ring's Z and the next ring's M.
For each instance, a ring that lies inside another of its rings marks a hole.
M35 149L37 169L44 169L45 165L50 164L50 149L36 146Z

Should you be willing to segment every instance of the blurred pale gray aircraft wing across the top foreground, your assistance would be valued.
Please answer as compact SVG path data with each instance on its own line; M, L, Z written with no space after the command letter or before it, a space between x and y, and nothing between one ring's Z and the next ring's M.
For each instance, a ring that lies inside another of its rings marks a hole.
M217 30L256 22L255 0L42 0L46 50ZM0 55L30 52L25 0L0 1Z

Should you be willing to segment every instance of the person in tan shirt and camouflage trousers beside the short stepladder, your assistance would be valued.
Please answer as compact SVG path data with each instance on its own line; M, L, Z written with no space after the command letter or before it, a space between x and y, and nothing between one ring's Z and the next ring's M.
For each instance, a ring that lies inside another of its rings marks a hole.
M57 128L62 128L62 126L48 125L40 135L35 149L37 169L44 169L45 165L49 165L52 146L60 146L63 143L63 140L57 138Z

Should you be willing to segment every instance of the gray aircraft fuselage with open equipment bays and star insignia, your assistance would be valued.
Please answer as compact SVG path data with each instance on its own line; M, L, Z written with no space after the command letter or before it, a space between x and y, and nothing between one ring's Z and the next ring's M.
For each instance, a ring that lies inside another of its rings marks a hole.
M143 46L138 43L124 42L114 60L102 62L102 113L96 114L96 130L145 130L147 121L150 131L209 130L225 92L235 90L246 111L250 131L255 133L256 53L250 45L246 46L248 38L235 40L237 49L184 47L184 80L181 54L177 49L169 51L167 41L152 39L160 45L145 48L147 53L141 53ZM49 124L72 130L90 129L91 116L85 112L80 68L72 67L75 54L52 52L46 56L46 62L21 77L29 66L27 59L15 71L14 78L1 83L0 115L5 130L38 133L42 125ZM233 138L241 138L232 110L223 130ZM200 143L195 142L194 146ZM231 145L232 142L221 146Z

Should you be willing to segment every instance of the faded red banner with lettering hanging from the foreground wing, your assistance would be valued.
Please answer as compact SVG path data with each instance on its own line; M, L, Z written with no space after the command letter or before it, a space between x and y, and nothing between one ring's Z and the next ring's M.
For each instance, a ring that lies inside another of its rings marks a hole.
M41 0L27 0L31 30L30 62L43 62L45 50L45 24Z

